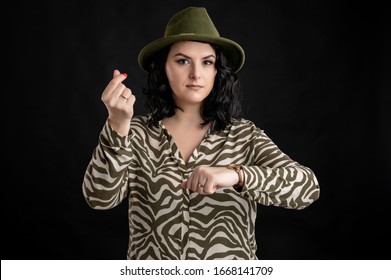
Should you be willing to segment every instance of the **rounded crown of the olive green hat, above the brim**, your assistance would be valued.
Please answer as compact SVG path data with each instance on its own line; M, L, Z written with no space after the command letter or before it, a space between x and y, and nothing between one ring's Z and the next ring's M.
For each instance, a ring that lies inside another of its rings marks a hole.
M167 23L164 37L185 34L220 37L203 7L189 7L175 14Z

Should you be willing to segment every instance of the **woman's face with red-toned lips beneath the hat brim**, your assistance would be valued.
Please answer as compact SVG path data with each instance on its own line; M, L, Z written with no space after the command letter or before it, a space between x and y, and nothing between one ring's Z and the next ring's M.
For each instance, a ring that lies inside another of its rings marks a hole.
M174 43L167 56L166 75L173 98L179 106L200 105L215 81L216 52L207 43Z

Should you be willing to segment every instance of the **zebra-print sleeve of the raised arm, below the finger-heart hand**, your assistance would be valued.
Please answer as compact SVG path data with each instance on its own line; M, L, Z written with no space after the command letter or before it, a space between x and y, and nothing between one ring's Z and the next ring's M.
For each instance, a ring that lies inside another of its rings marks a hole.
M94 209L110 209L128 193L128 166L132 136L121 136L106 121L82 184L83 195Z

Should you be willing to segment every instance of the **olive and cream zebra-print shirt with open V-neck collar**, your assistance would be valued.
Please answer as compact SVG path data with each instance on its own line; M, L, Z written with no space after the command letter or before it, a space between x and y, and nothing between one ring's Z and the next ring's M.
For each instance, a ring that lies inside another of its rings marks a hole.
M199 165L241 164L243 189L200 195L180 187ZM319 197L315 174L290 159L251 121L209 130L186 165L172 136L147 116L128 136L106 121L86 169L83 195L94 209L128 198L127 259L257 259L257 203L303 209Z

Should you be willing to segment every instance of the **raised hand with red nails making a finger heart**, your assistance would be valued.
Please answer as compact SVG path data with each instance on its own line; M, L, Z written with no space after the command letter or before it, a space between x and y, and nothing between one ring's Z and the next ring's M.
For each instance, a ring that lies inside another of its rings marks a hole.
M118 70L114 70L113 79L106 86L101 97L109 112L110 126L123 136L129 133L134 113L133 105L136 101L130 88L122 83L126 77L126 73L121 74Z

